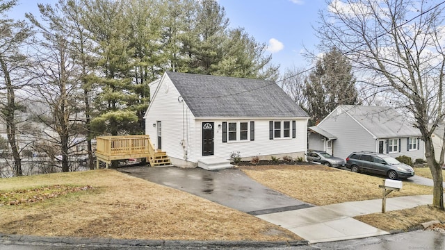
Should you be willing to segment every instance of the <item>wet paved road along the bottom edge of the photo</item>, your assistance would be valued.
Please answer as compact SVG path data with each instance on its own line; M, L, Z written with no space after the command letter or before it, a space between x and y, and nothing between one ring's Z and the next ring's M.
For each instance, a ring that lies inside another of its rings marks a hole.
M40 239L40 240L39 240ZM35 236L6 236L0 235L0 249L2 250L123 250L123 249L197 249L197 250L407 250L407 249L445 249L445 234L433 231L412 231L359 240L345 240L340 242L325 242L312 245L268 244L265 242L168 242L144 240L100 240L82 238L38 238Z

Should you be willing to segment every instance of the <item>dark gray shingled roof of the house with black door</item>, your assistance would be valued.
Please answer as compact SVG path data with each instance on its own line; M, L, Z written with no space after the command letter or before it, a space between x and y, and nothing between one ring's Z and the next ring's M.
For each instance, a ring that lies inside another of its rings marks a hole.
M307 117L273 81L166 74L195 117Z

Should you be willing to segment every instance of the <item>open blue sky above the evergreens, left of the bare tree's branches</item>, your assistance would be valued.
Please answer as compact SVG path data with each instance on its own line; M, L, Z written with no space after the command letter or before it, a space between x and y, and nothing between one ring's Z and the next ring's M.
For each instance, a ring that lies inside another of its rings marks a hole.
M58 0L19 0L9 17L25 19L24 13L38 16L37 3L54 4ZM273 63L280 72L289 67L310 67L301 56L303 45L314 49L318 40L318 10L326 9L325 0L218 0L225 8L232 28L243 27L257 42L269 44ZM315 51L317 52L317 51Z

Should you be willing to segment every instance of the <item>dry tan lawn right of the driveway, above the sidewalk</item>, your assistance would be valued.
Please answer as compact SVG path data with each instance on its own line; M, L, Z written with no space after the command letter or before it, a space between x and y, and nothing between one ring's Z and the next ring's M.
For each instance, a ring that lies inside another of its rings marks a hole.
M317 206L381 199L385 177L358 174L324 165L280 165L241 167L243 172L264 185L290 197ZM403 183L401 192L388 197L432 194L432 187Z

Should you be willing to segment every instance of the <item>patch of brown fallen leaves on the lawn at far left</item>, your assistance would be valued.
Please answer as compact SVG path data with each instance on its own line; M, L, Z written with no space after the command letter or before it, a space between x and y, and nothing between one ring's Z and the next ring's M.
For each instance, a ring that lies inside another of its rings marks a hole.
M26 190L0 191L0 206L17 206L57 198L66 194L92 189L92 186L82 187L70 185L49 185Z

